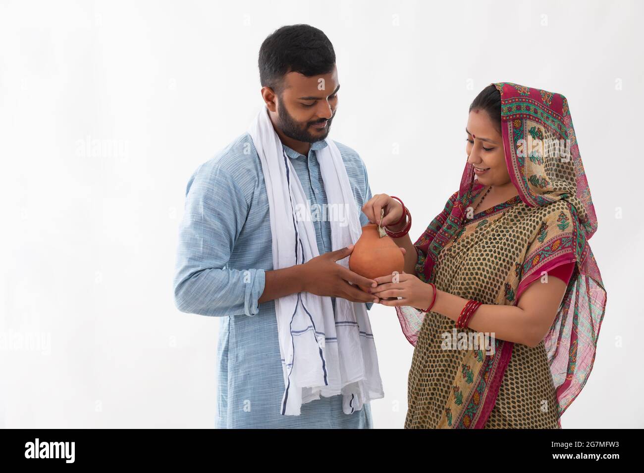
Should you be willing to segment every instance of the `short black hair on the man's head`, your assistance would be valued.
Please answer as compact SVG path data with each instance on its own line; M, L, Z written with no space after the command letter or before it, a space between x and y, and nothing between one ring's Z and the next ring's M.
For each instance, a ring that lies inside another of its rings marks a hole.
M311 77L333 71L336 52L321 30L308 24L292 24L278 28L261 43L258 62L261 86L279 95L282 78L289 72Z

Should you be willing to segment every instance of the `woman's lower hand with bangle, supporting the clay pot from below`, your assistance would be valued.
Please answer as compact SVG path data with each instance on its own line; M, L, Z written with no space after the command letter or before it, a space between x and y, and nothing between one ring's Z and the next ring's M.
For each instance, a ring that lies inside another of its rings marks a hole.
M377 286L373 287L371 293L379 297L383 306L412 306L425 310L433 299L433 289L429 284L423 283L413 274L391 274L375 278ZM397 299L402 297L403 299ZM391 300L383 300L390 299Z

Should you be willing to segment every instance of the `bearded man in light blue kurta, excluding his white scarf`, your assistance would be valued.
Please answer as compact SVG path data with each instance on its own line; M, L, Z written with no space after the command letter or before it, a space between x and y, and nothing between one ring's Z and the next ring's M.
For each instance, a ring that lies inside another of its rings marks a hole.
M261 96L283 151L307 199L327 202L317 156L336 113L336 56L327 36L305 24L284 26L260 48ZM272 132L271 132L272 133ZM336 143L357 208L372 197L365 165ZM359 214L366 225L365 214ZM303 403L283 415L285 393L275 299L308 292L352 302L377 301L355 284L370 286L336 261L352 246L331 250L329 221L312 219L319 256L273 268L269 198L256 144L249 133L201 165L189 180L180 229L175 302L179 310L220 317L218 428L371 428L367 403L343 412L341 395ZM352 283L352 284L349 284Z

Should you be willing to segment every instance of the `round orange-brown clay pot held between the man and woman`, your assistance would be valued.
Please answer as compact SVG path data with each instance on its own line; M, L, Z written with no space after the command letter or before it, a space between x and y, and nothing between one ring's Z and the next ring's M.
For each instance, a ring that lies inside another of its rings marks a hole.
M390 236L381 238L378 234L378 226L371 223L363 227L362 236L355 242L354 250L349 256L349 269L369 279L386 276L394 271L402 274L403 252ZM360 285L359 287L368 292L368 288Z

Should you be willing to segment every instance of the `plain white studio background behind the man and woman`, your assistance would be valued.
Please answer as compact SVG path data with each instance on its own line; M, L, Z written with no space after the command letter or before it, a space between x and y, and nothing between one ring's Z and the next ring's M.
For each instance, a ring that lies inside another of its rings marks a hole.
M608 305L562 423L644 427L643 14L636 1L1 1L0 426L214 426L218 320L173 301L185 185L261 106L263 39L308 23L336 49L330 137L361 154L374 194L404 199L413 241L458 188L480 89L568 98ZM375 427L401 428L412 346L392 308L370 313Z

